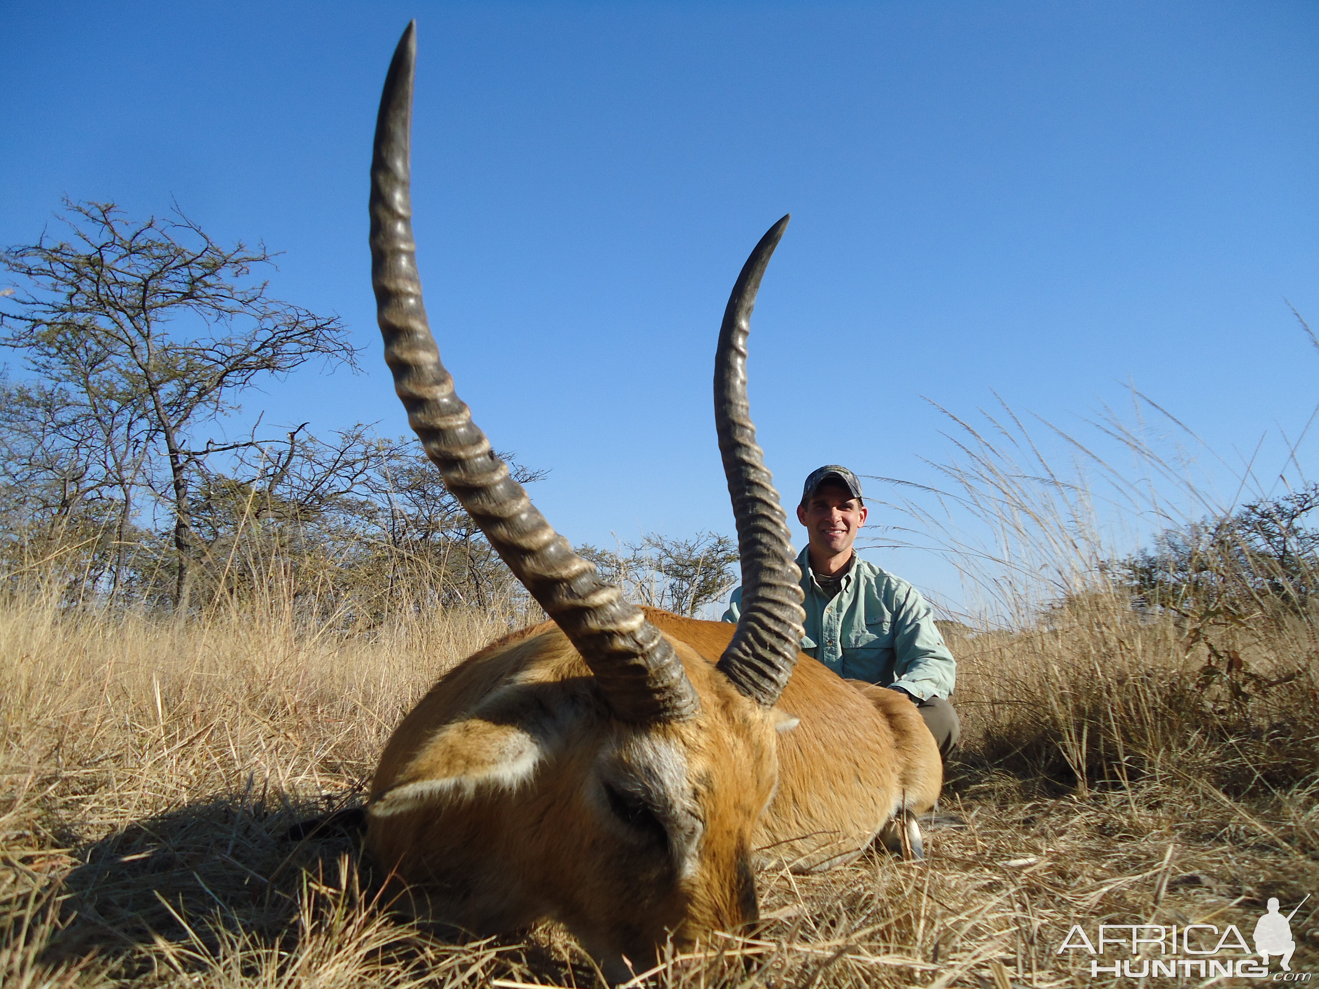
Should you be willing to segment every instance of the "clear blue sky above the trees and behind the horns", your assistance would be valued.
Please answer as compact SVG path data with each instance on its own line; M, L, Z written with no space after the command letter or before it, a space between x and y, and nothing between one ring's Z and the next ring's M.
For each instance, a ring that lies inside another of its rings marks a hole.
M789 500L826 462L929 480L948 443L922 397L1066 425L1134 380L1229 459L1319 401L1283 302L1319 324L1310 1L4 7L0 243L61 195L264 239L276 294L369 348L365 375L245 400L319 433L405 431L365 202L415 17L431 323L576 542L732 530L712 348L789 211L752 335Z

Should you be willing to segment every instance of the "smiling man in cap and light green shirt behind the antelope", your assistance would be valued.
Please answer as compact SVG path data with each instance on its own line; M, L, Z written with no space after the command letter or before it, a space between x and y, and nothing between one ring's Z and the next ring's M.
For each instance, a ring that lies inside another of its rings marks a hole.
M797 558L806 592L802 651L839 676L906 694L947 756L962 731L948 703L958 665L921 592L856 555L867 514L861 483L845 467L827 464L806 479L797 506L807 534ZM740 613L739 587L724 621Z

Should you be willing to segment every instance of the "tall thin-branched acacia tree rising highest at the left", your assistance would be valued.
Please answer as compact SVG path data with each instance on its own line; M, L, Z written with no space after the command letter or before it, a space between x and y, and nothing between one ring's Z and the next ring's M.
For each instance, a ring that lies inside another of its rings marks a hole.
M208 456L253 442L216 444L202 430L261 376L318 356L355 367L356 351L338 316L268 294L255 277L272 265L264 244L224 247L177 210L129 220L113 203L65 206L69 240L44 233L3 256L21 284L0 301L0 344L21 351L34 407L61 393L80 442L95 436L100 476L84 483L117 488L121 525L137 489L168 508L174 600L186 608L203 554L190 481Z

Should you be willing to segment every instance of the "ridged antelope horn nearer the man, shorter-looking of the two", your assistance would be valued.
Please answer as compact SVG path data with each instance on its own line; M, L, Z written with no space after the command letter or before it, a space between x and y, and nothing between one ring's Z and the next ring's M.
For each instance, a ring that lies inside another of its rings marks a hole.
M793 558L787 517L756 444L756 425L747 402L751 313L760 280L789 219L785 216L770 227L743 265L724 310L715 352L715 429L737 521L743 576L741 618L719 658L719 669L739 691L765 705L778 700L793 675L806 617L802 572Z

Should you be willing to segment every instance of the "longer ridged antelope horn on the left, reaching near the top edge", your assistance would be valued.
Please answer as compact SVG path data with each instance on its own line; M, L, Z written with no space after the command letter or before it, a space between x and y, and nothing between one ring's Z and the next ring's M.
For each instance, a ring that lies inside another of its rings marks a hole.
M613 713L625 721L685 720L700 703L673 646L536 510L454 394L441 363L412 232L415 26L408 25L389 65L371 161L371 282L394 390L445 484L576 646Z

